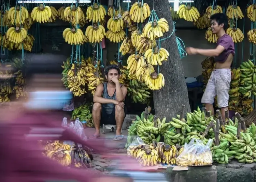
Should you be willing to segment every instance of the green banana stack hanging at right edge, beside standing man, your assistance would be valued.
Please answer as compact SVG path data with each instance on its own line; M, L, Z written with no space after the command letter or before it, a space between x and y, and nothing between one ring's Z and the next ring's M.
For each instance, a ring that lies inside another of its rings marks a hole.
M239 92L243 98L251 98L252 94L256 95L256 67L251 60L241 64L241 81Z

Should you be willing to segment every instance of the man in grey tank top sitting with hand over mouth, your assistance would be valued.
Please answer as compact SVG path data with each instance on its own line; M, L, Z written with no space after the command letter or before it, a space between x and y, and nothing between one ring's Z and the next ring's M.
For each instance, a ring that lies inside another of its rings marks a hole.
M93 97L93 121L96 132L90 139L100 136L100 121L102 124L116 124L116 135L114 140L122 140L121 128L125 118L124 101L127 88L119 83L120 69L117 65L110 65L105 70L108 80L96 88ZM102 119L102 120L101 120Z

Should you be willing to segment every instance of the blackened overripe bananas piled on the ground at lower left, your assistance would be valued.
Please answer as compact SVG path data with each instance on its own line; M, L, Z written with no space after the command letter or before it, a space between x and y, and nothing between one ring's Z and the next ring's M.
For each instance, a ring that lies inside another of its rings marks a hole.
M93 160L93 156L89 152L89 150L85 150L83 148L79 148L78 146L71 147L71 161L72 165L78 168L90 168L91 160Z

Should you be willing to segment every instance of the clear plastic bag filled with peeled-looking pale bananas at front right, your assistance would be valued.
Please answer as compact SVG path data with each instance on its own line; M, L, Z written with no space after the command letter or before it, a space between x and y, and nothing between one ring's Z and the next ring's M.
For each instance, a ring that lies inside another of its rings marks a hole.
M207 145L200 140L192 139L185 144L184 150L176 158L178 166L206 166L212 164L212 153L210 150L213 140L210 139Z

